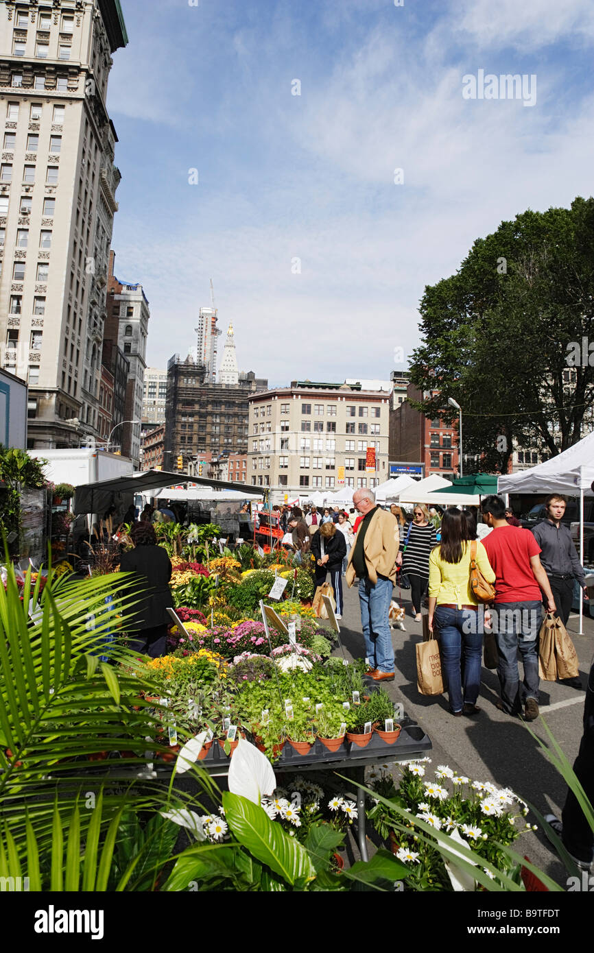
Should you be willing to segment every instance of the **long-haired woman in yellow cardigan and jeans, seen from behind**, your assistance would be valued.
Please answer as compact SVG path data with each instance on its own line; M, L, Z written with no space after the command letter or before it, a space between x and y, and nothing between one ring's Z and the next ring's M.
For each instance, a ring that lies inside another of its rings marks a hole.
M482 543L477 540L477 565L488 582L495 582ZM436 607L437 603L437 607ZM441 542L429 557L429 629L440 633L440 655L447 679L450 713L476 715L481 688L483 629L478 603L470 588L470 538L461 510L451 507L441 521ZM461 652L464 652L463 700Z

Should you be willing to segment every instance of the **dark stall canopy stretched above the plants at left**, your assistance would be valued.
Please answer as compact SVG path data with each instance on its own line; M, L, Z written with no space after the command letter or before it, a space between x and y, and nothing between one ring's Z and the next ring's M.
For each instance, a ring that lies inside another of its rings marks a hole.
M166 486L180 486L182 483L197 483L214 490L238 490L242 497L261 497L261 487L244 486L242 483L228 483L224 480L204 479L182 473L167 473L164 470L145 470L131 476L117 476L114 479L99 480L97 483L83 483L76 487L74 495L74 513L105 513L113 501L122 497L133 497L137 493L160 490ZM170 497L171 498L171 497Z

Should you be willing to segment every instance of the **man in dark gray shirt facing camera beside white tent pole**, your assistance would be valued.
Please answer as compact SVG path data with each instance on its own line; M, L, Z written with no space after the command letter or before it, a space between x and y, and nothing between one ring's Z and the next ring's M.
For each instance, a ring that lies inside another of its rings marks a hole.
M542 550L541 562L555 598L557 615L566 625L573 602L573 580L576 578L586 592L585 574L569 529L561 522L566 506L565 497L551 494L544 500L544 506L546 519L537 523L532 532ZM564 679L563 684L582 688L580 679Z

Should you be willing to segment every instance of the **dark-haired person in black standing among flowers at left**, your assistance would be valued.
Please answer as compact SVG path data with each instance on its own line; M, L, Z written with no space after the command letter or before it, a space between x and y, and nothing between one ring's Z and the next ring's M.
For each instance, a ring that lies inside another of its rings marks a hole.
M154 527L151 523L134 523L130 533L134 548L124 553L119 564L122 573L136 573L140 601L133 606L133 618L129 622L129 634L133 637L132 648L156 659L165 654L167 626L170 617L167 609L173 606L169 588L172 564L162 546L156 545Z

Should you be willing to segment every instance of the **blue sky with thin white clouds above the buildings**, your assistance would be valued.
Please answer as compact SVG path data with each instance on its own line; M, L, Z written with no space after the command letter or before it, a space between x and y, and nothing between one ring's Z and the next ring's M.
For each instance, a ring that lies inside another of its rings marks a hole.
M240 370L389 379L477 238L591 194L591 0L396 2L121 0L113 249L150 366L195 349L212 278Z

